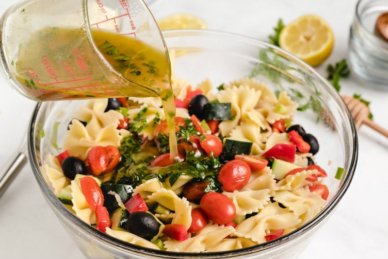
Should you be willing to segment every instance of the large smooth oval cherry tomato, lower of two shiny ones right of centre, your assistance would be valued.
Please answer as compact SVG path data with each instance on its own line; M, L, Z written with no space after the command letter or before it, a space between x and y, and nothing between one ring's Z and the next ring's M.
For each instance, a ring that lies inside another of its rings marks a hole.
M224 194L214 191L203 195L199 207L215 224L227 224L236 216L234 203Z

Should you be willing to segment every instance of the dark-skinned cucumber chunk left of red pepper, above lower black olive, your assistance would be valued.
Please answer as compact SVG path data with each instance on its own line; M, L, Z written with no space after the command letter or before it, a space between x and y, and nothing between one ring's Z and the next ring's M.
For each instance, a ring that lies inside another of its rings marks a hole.
M121 207L117 202L115 193L120 197L121 202L124 204L129 200L132 190L132 186L126 184L101 184L101 191L104 195L104 206L107 208Z

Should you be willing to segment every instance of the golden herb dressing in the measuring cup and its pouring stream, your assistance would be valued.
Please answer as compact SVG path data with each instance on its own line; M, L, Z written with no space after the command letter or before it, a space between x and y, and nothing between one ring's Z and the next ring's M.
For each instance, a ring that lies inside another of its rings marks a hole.
M167 51L131 36L91 33L93 42L81 28L48 27L34 33L18 47L18 59L10 68L22 88L19 92L36 101L160 96L170 129L170 154L177 157Z

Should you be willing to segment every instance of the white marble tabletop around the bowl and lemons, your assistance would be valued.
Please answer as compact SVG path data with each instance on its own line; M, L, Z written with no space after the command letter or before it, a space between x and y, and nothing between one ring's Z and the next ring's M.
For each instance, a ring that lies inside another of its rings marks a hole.
M0 12L16 0L0 1ZM324 17L333 27L334 51L318 69L347 57L349 26L356 0L156 0L154 16L175 13L202 17L210 29L267 40L279 17L285 23L304 14ZM388 128L387 91L368 87L352 75L340 81L341 93L370 100L374 121ZM26 137L35 105L0 78L0 166ZM300 259L388 258L388 139L367 126L358 132L359 158L353 182L335 213L315 235ZM0 198L0 259L83 259L40 193L29 165Z

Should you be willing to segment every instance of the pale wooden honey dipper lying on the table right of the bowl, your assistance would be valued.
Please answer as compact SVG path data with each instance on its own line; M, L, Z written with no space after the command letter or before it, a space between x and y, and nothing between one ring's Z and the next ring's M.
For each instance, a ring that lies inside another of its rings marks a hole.
M367 105L365 105L360 100L357 100L356 98L349 97L349 96L342 95L342 99L343 101L345 101L346 105L348 106L350 113L352 114L352 117L355 121L355 125L357 129L362 124L365 124L388 138L388 130L377 125L376 123L374 123L372 120L368 118L370 111Z

